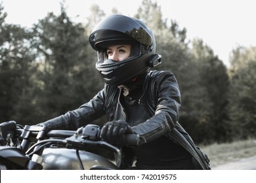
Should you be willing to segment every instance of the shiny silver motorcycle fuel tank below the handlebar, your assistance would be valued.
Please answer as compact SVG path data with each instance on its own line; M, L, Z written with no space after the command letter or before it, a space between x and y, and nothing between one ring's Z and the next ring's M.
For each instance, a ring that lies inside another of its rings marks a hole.
M43 154L43 169L47 170L81 170L76 150L67 148L45 148ZM108 159L79 150L79 157L85 170L89 169L119 169Z

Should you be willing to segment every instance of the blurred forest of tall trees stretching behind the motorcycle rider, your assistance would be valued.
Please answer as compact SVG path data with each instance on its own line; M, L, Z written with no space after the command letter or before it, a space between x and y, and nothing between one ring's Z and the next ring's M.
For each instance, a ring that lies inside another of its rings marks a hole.
M0 122L44 122L91 99L104 87L88 37L106 14L91 7L87 23L72 22L65 4L32 27L8 24L0 4ZM113 9L113 13L119 13ZM163 20L160 7L142 1L136 18L154 31L156 52L179 82L179 122L197 143L232 142L256 136L256 47L236 46L230 67L202 39ZM96 121L102 125L104 118Z

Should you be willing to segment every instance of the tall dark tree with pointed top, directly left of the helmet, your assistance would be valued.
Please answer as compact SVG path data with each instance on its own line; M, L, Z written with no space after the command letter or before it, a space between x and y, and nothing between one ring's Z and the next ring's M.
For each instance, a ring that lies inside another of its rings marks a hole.
M41 55L38 119L43 121L79 107L102 85L92 70L95 63L88 57L85 29L70 21L63 5L60 16L49 13L34 31L39 39L35 48Z

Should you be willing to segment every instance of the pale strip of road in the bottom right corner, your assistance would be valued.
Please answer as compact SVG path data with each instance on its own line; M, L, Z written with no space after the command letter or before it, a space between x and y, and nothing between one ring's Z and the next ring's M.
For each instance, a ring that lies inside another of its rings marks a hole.
M256 156L212 167L213 170L256 170Z

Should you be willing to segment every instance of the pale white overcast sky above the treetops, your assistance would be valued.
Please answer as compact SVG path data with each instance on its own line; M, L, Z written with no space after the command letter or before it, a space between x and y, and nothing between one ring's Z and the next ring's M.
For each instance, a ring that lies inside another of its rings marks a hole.
M61 0L0 0L8 16L6 22L30 27L47 12L60 13ZM229 56L237 46L256 46L256 1L254 0L151 0L161 7L163 18L176 20L187 29L187 37L200 38L229 66ZM106 14L112 8L134 16L142 0L66 0L68 16L85 22L93 4ZM255 2L255 3L254 3Z

